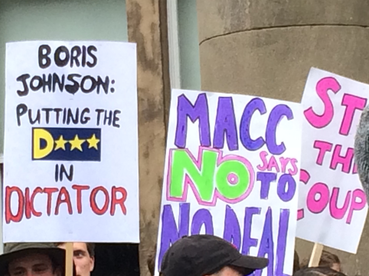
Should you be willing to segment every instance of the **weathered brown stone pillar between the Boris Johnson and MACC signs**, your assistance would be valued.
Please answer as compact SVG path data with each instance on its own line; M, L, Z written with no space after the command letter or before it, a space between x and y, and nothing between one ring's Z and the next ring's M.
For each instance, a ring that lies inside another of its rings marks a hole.
M161 17L166 10L164 0L126 0L126 4L128 40L137 43L139 262L141 275L149 276L147 259L155 253L165 158L164 91L169 89L169 72L166 21Z

